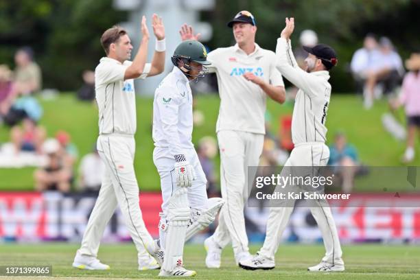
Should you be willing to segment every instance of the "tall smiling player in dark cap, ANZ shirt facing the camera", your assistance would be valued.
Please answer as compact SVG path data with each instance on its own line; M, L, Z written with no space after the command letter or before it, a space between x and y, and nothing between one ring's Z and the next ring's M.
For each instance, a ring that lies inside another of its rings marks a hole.
M245 231L244 203L248 198L248 166L257 166L265 125L266 97L282 104L285 90L275 67L273 51L255 43L257 23L248 11L238 12L228 23L236 45L209 53L209 71L218 78L220 110L216 124L220 148L220 183L225 204L219 226L205 240L206 266L220 268L222 248L232 242L235 261L250 259ZM198 39L191 26L183 25L181 38Z

